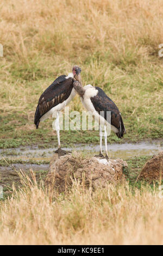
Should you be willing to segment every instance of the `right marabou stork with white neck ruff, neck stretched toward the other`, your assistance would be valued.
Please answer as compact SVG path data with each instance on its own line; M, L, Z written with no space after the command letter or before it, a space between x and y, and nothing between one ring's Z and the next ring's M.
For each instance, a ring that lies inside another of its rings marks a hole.
M111 130L114 131L118 138L122 138L123 134L126 133L126 129L123 124L121 113L115 103L104 93L104 91L99 87L91 86L82 86L78 81L74 82L74 89L80 95L80 99L87 109L87 111L92 112L96 120L100 120L100 124L104 125L104 138L105 138L105 151L106 156L102 154L102 127L99 125L99 138L100 138L100 150L97 157L103 157L108 160L108 150L107 150L107 132L106 121L107 111L111 112Z

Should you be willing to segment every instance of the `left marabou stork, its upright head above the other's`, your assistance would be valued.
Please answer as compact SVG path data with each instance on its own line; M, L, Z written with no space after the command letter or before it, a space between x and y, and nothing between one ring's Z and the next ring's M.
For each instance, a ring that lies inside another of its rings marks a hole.
M44 121L49 117L54 117L57 114L55 120L55 129L57 131L58 138L58 150L55 153L58 155L65 155L66 151L62 150L60 147L60 127L59 127L59 112L61 109L73 99L76 95L76 91L73 88L74 79L82 83L80 72L82 69L79 66L73 66L72 73L59 76L52 84L49 86L45 92L40 96L36 112L34 123L36 129L39 127L40 121Z

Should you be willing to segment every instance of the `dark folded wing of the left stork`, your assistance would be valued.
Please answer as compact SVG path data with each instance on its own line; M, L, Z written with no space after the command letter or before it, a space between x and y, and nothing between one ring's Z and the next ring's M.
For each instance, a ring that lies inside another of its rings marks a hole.
M59 76L40 96L39 103L35 112L34 123L36 129L39 126L40 118L51 108L68 99L73 88L73 78L65 78L65 75Z

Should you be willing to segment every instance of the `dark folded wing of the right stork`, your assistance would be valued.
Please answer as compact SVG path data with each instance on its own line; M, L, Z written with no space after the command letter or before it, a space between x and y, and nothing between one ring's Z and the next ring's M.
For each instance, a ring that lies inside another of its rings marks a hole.
M96 87L96 89L98 90L98 94L95 97L91 97L93 106L99 114L104 115L105 120L107 118L107 111L111 111L111 125L118 129L116 133L118 138L122 138L123 134L126 133L126 129L119 109L101 88ZM103 113L101 113L102 111Z

